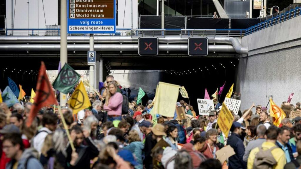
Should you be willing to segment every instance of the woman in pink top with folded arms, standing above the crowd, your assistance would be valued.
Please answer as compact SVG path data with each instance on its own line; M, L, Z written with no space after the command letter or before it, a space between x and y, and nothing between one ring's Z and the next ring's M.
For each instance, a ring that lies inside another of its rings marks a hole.
M117 85L114 82L108 84L106 102L104 110L108 113L107 121L122 120L122 102L123 97L121 93L117 92Z

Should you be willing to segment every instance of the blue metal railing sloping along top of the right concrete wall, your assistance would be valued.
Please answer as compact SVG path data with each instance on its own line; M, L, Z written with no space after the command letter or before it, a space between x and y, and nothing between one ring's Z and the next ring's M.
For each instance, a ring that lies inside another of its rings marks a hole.
M258 23L257 25L251 26L250 28L246 29L245 35L250 35L251 33L254 33L261 29L265 29L275 24L284 22L285 20L289 20L291 18L299 16L301 13L300 11L301 11L301 7L296 7L295 9L291 9L290 11L272 17L271 19L262 21L261 23Z

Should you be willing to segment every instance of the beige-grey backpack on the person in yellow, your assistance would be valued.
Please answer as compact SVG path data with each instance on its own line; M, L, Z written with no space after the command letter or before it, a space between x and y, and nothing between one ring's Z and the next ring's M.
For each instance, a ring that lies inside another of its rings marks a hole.
M279 148L277 146L271 149L263 150L262 146L259 146L259 152L255 155L253 169L272 169L277 161L272 155L272 150Z

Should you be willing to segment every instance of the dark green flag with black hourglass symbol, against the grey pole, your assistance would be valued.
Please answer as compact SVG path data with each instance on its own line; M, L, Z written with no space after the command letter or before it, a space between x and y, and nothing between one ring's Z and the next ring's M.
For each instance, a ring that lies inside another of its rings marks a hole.
M80 75L75 72L71 66L65 63L52 85L54 89L64 94L68 94L79 81L79 78Z

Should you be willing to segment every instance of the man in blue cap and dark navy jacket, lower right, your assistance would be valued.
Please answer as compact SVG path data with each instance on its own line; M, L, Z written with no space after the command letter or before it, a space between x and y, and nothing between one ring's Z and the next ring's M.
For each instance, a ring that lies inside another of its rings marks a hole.
M229 157L229 169L245 169L247 168L247 163L244 161L244 143L240 139L241 132L246 128L238 122L233 122L232 133L228 137L227 145L234 149L235 155Z

